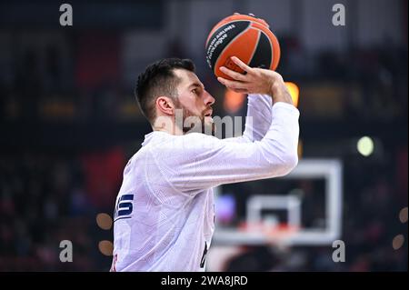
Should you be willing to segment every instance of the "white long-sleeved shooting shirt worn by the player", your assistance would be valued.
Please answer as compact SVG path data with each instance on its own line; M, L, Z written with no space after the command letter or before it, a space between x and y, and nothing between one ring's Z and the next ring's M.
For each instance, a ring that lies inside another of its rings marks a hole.
M298 116L293 105L249 95L243 136L145 135L116 198L111 271L205 271L212 188L288 174L297 163Z

